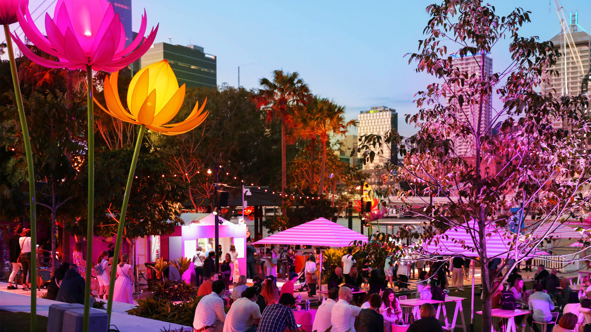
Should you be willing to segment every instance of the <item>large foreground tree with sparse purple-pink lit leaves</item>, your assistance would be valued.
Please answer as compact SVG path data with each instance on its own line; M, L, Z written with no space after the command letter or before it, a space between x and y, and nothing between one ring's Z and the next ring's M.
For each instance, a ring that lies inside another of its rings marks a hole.
M478 0L445 0L429 5L427 13L426 37L418 41L417 53L407 54L417 73L436 80L417 93L418 112L407 115L417 134L365 135L358 149L364 162L372 162L381 150L397 148L392 155L404 162L392 160L388 170L395 183L409 185L392 185L378 196L427 222L402 225L394 235L376 234L363 250L434 258L446 248L426 252L426 244L437 244L437 236L452 226L465 231L473 245L456 244L465 250L460 256L475 253L480 259L482 331L490 331L491 295L499 285L492 281L501 274L489 271L489 262L504 258L511 271L525 257L538 255L536 248L569 222L589 215L589 97L538 92L540 84L559 79L554 65L561 54L549 41L518 35L530 12L516 8L499 17L493 6ZM509 66L487 73L486 57L502 40L509 41ZM456 58L472 59L479 70L460 69ZM501 103L487 114L492 96ZM512 213L512 208L521 210ZM544 258L584 259L591 242L581 233L578 256L550 250ZM494 235L509 245L502 255L487 255L487 239Z

